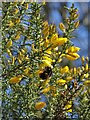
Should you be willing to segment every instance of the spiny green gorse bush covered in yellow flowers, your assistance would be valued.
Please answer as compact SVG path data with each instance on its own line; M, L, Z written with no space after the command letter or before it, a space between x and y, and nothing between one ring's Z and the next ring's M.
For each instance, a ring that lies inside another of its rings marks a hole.
M66 120L90 118L88 57L71 41L79 27L79 11L64 6L68 17L45 21L44 2L2 4L2 120ZM81 59L82 66L61 66ZM76 105L78 103L78 105Z

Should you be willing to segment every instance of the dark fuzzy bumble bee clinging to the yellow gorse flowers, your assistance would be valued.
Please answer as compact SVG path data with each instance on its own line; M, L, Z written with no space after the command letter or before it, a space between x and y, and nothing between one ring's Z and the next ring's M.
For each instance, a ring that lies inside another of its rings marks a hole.
M51 67L45 67L43 70L40 71L39 77L43 80L48 79L52 75Z

